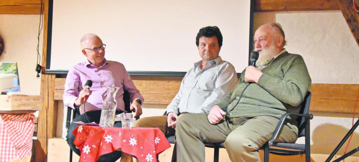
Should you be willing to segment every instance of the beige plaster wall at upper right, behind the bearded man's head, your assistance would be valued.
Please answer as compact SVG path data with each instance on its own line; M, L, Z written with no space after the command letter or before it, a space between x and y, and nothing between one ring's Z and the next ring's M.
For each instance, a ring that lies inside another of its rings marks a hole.
M312 83L359 84L359 48L342 12L260 12L254 27L282 25L290 53L303 56Z

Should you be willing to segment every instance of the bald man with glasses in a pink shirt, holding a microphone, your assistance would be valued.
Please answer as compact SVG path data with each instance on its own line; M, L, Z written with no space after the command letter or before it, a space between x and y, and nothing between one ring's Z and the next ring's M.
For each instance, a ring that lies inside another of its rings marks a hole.
M81 51L86 61L74 65L68 72L65 83L63 102L73 109L79 108L80 114L73 122L99 123L103 99L106 98L106 86L115 86L120 89L116 94L116 114L125 111L123 101L124 91L130 93L133 101L130 109L136 110L135 118L142 114L141 104L144 101L140 91L136 88L130 75L122 63L105 59L106 44L95 34L85 34L80 41ZM91 90L86 88L87 80L92 81ZM86 100L87 99L87 100ZM86 112L86 115L84 114ZM72 151L80 155L81 151L73 144L75 135L72 131L79 124L71 123L68 128L66 141ZM114 127L121 127L121 122L115 122ZM99 157L97 162L115 162L121 157L121 152L115 151Z

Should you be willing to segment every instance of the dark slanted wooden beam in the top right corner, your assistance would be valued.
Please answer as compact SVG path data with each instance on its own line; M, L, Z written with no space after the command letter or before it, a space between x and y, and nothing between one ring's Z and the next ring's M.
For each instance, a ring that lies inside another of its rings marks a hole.
M340 10L359 46L359 12L354 9L352 0L337 0Z

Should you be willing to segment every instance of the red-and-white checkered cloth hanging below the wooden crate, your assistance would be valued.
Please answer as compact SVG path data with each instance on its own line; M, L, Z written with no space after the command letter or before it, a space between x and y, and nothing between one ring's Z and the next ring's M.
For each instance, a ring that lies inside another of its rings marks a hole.
M0 162L31 157L34 114L0 114Z

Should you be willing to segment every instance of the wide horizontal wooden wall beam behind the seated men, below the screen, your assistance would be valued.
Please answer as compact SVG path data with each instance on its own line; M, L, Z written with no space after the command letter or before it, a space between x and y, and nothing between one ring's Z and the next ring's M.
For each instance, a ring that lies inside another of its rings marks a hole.
M179 91L181 77L132 77L145 104L168 105ZM64 78L55 81L55 100L62 100ZM359 84L312 84L312 112L353 113ZM359 108L356 110L359 113Z

